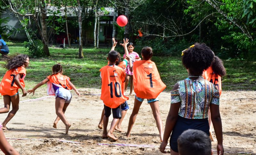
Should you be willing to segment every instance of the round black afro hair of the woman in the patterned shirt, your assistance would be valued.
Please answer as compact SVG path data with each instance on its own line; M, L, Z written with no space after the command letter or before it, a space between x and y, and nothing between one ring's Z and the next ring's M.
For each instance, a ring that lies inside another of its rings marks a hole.
M205 43L195 43L194 47L183 51L182 64L192 75L202 75L211 66L214 53Z

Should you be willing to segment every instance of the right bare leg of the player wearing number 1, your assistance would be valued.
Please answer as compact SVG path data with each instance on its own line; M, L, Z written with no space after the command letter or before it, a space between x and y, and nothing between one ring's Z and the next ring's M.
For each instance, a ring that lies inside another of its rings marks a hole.
M157 126L157 129L158 129L159 134L160 134L160 141L163 142L164 130L163 130L163 122L162 122L162 119L160 117L158 101L151 102L149 105L152 109L153 116L156 120L156 126Z

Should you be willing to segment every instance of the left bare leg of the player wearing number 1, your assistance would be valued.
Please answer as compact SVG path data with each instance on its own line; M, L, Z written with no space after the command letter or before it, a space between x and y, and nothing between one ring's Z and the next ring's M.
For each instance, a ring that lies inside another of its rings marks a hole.
M135 98L132 114L131 114L130 119L129 119L129 125L128 125L128 129L127 129L127 133L126 133L127 137L130 137L130 135L131 135L132 126L133 126L133 124L134 124L134 122L136 120L137 114L139 113L140 105L141 104L142 104L142 102L140 102L139 100L137 100Z

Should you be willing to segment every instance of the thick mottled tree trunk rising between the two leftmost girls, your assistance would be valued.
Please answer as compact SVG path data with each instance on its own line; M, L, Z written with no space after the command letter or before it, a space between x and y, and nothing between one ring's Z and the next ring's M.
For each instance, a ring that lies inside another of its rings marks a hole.
M48 48L48 38L47 38L47 32L46 32L46 4L44 3L44 0L42 0L42 5L40 6L41 8L41 26L42 26L42 41L44 43L44 54L46 56L50 56L49 48Z

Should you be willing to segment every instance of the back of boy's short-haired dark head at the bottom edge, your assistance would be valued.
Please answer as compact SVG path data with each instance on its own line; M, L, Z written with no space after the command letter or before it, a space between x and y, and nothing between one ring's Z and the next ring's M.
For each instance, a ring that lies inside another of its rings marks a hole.
M212 155L212 145L209 136L200 130L188 129L178 138L180 155Z

